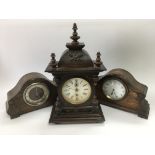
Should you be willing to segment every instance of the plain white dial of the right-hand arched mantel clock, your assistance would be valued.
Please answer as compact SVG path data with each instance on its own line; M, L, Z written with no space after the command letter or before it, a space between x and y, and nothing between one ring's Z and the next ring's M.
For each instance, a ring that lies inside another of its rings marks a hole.
M102 86L105 96L111 100L121 100L126 95L126 87L117 79L109 79Z

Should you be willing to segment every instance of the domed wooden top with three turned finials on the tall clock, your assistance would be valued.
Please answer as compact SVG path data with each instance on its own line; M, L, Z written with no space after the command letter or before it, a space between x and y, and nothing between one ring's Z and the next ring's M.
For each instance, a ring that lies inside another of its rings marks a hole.
M102 61L100 59L100 55L97 54L96 61L93 61L89 56L88 52L84 50L84 43L80 43L78 40L80 36L77 33L77 25L73 24L73 34L70 37L72 39L71 43L67 43L67 49L63 52L59 61L56 61L55 54L51 54L51 62L46 68L46 72L59 74L62 71L65 72L83 72L83 71L97 71L101 72L106 70ZM99 52L98 52L99 53Z

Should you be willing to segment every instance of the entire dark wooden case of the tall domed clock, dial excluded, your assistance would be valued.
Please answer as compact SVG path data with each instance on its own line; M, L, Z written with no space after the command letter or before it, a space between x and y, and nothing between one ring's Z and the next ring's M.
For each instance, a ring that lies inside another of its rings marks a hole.
M56 65L52 65L54 59L52 58L46 68L46 72L52 73L58 86L58 98L52 109L50 123L94 123L105 120L96 97L95 86L99 72L106 70L106 68L101 63L99 53L97 60L92 61L88 52L83 49L84 43L78 42L79 38L77 26L74 24L73 36L71 36L73 41L66 44L68 49L65 50L59 61L55 61ZM86 103L72 105L63 99L62 84L73 77L86 79L90 83L93 91Z

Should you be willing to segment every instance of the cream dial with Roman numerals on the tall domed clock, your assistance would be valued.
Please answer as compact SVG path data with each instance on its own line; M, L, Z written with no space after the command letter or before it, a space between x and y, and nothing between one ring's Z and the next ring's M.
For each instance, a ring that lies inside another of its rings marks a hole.
M82 104L91 96L90 84L82 78L67 80L62 86L63 98L71 104Z

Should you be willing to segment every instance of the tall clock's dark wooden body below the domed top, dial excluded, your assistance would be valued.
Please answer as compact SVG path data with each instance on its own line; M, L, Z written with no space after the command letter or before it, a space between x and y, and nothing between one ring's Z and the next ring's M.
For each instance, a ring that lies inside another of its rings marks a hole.
M86 75L86 74L72 74L72 75L62 75L55 76L54 80L58 85L58 98L56 104L52 109L49 123L65 124L65 123L96 123L104 122L104 116L95 95L94 79L97 76ZM70 78L83 78L90 82L93 89L92 96L89 101L80 104L72 105L64 101L61 95L61 88L63 83ZM63 102L63 103L62 103Z

